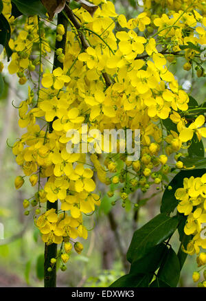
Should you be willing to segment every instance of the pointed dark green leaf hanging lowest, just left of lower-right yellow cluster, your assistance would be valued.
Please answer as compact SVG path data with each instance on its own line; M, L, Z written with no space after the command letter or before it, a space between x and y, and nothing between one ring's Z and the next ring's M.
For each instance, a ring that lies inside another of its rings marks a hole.
M170 249L168 249L168 254L161 263L157 277L170 287L176 287L179 282L180 271L181 267L179 259L172 247L170 247Z

